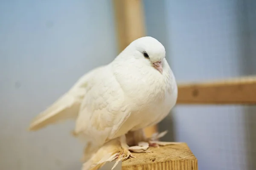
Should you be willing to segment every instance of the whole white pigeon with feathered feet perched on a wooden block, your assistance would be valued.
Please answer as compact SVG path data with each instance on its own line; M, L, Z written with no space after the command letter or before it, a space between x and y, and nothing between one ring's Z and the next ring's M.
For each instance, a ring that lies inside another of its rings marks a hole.
M172 144L158 141L166 132L151 138L143 132L163 120L177 100L177 84L165 57L164 46L153 37L134 40L111 63L81 77L29 129L75 119L73 134L86 145L82 170L136 159L132 153L146 154L149 146Z

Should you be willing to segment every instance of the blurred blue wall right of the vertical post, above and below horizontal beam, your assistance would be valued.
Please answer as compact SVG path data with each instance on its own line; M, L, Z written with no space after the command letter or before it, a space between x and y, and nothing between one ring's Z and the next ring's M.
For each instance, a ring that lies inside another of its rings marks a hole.
M144 1L148 35L164 42L178 82L256 74L253 0ZM166 28L163 28L166 27ZM177 105L160 129L187 142L201 170L254 170L255 107Z

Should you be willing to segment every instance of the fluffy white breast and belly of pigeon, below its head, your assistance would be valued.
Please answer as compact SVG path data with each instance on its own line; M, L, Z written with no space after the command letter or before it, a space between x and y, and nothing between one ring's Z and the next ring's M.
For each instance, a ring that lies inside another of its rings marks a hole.
M125 94L125 105L131 111L117 135L157 124L168 115L177 100L177 84L168 64L163 74L139 64L116 64L115 67L113 73Z

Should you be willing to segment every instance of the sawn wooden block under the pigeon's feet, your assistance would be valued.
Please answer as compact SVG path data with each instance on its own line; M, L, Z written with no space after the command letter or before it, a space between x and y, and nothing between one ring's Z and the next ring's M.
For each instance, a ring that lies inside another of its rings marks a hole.
M186 143L149 147L151 153L133 153L122 162L122 170L198 170L198 161Z

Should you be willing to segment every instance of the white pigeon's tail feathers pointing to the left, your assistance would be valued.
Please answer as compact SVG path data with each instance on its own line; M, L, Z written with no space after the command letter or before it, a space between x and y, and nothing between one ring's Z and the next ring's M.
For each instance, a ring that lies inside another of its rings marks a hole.
M40 113L30 124L29 130L39 130L49 124L55 124L67 119L76 119L81 101L67 93Z

